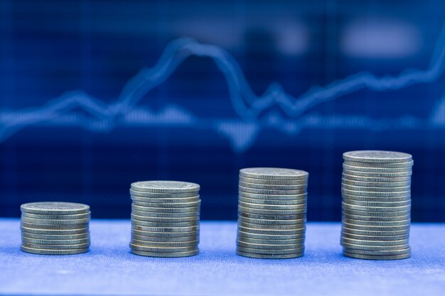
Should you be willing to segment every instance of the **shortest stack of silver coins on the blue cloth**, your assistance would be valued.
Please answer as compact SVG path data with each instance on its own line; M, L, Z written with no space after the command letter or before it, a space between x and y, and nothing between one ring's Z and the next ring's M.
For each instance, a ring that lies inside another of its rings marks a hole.
M33 202L21 207L21 251L71 255L90 249L90 207L72 202Z

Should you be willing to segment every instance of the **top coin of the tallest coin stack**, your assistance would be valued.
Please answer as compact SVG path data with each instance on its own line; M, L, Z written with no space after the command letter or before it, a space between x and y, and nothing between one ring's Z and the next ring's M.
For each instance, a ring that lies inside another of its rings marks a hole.
M412 161L412 155L395 151L360 150L343 153L343 159L360 163L406 163Z

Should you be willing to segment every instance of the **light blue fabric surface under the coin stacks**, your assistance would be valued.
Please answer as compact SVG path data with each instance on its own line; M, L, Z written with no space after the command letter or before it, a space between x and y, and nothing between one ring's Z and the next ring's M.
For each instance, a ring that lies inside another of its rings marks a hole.
M235 222L202 222L201 253L129 253L130 222L93 220L89 253L39 256L19 249L18 219L0 219L2 295L445 295L445 224L414 224L412 258L341 255L339 223L309 223L306 255L286 260L235 254Z

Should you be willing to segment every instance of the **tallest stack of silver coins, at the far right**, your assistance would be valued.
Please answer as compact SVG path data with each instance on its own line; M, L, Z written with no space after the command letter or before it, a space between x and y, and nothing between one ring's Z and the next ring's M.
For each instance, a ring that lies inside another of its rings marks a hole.
M343 153L343 254L352 258L409 258L412 156L392 151Z

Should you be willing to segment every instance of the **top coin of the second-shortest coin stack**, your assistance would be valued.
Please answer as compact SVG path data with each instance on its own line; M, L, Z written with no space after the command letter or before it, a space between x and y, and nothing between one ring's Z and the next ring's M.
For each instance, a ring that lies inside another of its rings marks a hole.
M180 181L143 181L132 183L132 190L158 193L198 192L200 186L191 182Z

